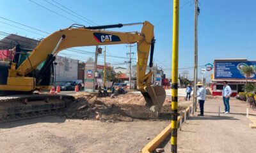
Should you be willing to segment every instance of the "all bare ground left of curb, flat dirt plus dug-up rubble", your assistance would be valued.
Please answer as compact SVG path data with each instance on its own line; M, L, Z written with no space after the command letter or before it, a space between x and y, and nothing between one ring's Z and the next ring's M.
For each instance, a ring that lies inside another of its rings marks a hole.
M170 98L164 115L152 117L140 94L97 98L75 95L68 110L48 117L0 124L1 152L140 152L170 124ZM191 101L179 100L179 110ZM149 138L149 140L148 140Z

